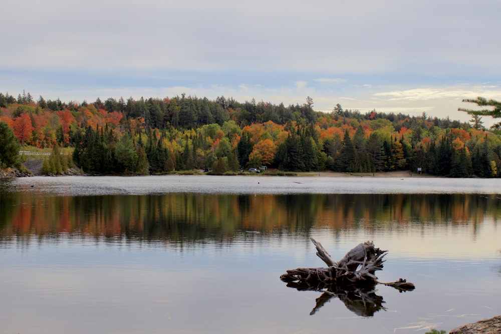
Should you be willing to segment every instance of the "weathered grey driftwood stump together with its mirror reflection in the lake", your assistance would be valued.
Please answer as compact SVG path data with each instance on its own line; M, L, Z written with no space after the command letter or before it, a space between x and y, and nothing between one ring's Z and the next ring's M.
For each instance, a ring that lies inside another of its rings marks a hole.
M361 243L340 261L335 261L320 242L310 239L317 248L318 257L327 267L291 269L280 276L289 287L323 292L310 314L317 312L331 298L337 297L356 314L372 316L376 311L384 309L383 297L374 291L376 284L392 286L400 292L414 289L414 284L402 278L387 283L378 281L375 271L383 269L387 251L376 248L373 242Z

